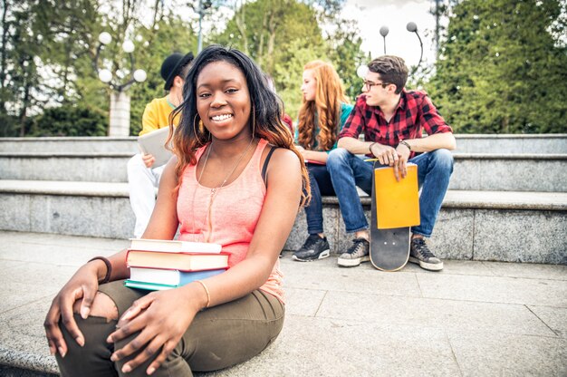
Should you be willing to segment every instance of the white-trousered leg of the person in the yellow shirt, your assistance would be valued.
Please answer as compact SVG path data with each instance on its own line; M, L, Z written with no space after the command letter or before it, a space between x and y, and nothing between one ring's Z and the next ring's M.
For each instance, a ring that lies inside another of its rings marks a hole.
M156 169L146 168L141 155L137 154L128 161L128 189L130 205L136 216L134 237L139 238L148 226L149 217L156 204L156 188L163 166Z

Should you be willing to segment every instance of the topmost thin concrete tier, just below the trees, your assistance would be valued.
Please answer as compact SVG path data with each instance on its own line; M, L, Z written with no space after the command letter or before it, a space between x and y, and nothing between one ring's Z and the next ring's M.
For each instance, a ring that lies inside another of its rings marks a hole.
M460 153L562 154L567 134L483 135L457 134ZM0 138L0 152L130 152L137 153L136 137Z

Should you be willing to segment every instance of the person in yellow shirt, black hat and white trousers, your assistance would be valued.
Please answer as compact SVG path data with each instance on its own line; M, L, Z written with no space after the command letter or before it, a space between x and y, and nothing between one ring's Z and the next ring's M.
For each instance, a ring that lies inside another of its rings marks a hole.
M161 64L161 77L165 81L165 97L156 98L146 105L142 115L142 130L139 135L159 130L169 125L176 126L180 113L169 119L172 111L183 102L183 85L193 61L193 53L173 53ZM128 161L128 189L130 205L136 216L134 237L139 238L148 226L149 217L156 203L156 188L165 165L154 166L156 159L151 154L137 154Z

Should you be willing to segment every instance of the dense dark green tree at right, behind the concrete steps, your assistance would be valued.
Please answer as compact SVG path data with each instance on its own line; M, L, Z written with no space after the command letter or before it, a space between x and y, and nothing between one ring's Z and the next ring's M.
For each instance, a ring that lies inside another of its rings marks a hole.
M451 8L427 89L455 131L567 130L566 8L559 0L466 0Z

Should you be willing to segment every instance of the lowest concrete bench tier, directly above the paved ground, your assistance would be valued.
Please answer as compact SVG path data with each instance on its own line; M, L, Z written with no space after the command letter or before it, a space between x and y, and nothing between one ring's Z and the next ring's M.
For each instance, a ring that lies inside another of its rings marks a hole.
M370 198L361 198L370 218ZM333 253L350 246L337 199L323 198ZM132 237L125 183L0 180L0 229ZM304 212L285 249L307 237ZM450 190L430 245L450 259L567 264L567 193Z

